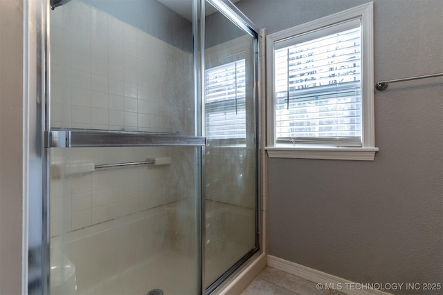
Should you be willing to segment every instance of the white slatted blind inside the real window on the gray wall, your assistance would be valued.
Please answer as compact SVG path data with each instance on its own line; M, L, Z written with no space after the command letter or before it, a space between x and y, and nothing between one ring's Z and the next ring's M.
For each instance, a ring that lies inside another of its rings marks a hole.
M276 48L276 142L362 146L360 19Z

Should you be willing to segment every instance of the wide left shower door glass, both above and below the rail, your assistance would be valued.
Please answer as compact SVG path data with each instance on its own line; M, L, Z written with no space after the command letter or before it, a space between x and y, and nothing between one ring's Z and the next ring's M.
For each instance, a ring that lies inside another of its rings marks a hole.
M185 12L61 3L50 12L52 128L196 135L191 1ZM201 292L200 147L50 154L52 295ZM158 161L95 168L147 159Z

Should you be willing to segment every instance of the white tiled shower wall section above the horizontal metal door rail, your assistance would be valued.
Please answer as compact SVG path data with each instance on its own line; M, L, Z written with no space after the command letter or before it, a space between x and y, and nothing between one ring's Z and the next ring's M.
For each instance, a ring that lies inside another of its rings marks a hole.
M50 13L52 127L186 132L191 53L79 0Z

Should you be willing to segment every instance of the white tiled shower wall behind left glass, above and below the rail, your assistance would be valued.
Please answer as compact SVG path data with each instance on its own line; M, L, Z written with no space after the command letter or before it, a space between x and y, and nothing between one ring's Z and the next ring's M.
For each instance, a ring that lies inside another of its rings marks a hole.
M192 53L82 1L50 13L51 128L192 135ZM51 162L65 166L156 157L172 164L51 178L51 236L193 197L195 184L184 173L195 164L193 150L53 149Z

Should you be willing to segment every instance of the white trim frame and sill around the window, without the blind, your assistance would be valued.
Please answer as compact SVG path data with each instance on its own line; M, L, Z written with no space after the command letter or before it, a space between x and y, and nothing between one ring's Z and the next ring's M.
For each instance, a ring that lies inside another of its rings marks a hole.
M321 19L309 21L300 26L275 32L266 37L266 84L267 84L267 146L269 158L306 158L306 159L329 159L329 160L374 160L375 153L379 150L375 147L374 135L374 32L373 32L373 7L372 2L365 3L355 8L329 15ZM361 44L362 44L362 146L358 148L346 148L336 146L276 146L275 145L275 113L274 113L274 86L273 86L273 61L275 43L289 39L296 35L314 32L336 23L350 19L361 19Z

